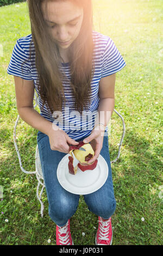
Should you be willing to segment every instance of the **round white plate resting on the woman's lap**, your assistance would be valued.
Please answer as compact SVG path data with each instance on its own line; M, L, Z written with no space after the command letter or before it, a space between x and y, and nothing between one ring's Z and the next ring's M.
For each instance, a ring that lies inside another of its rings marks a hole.
M57 169L58 181L65 190L73 194L90 194L99 190L99 188L104 185L108 178L109 171L108 164L101 155L98 156L95 169L82 172L82 170L78 168L76 175L72 175L68 172L68 156L70 156L70 154L62 158ZM76 166L77 163L78 161L74 159L73 166Z

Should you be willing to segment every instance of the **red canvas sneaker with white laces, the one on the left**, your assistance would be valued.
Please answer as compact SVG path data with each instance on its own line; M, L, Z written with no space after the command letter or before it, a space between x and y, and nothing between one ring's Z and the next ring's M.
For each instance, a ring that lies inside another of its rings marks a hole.
M70 220L64 227L56 227L56 244L57 245L73 245L70 231Z

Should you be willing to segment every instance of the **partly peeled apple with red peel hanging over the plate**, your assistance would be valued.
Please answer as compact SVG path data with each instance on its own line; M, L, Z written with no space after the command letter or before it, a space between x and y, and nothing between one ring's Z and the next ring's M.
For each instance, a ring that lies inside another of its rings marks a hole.
M79 148L84 148L86 151L79 150ZM76 159L79 161L76 167L73 166L73 154L76 157ZM70 174L75 175L77 173L78 167L82 172L85 172L85 170L93 170L97 166L98 160L94 161L93 163L86 164L87 161L92 159L92 157L95 155L94 150L92 149L92 146L90 143L84 143L83 141L80 141L78 145L70 146L70 155L68 156L69 162L68 162L68 170Z

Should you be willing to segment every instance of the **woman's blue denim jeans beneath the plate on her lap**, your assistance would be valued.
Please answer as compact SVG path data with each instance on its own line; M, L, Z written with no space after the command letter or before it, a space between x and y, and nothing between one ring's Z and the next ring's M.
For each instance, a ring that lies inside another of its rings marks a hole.
M83 141L84 138L86 137L77 139L76 141ZM76 212L80 195L66 191L59 184L57 179L58 164L66 153L51 150L49 137L40 131L37 133L37 144L39 147L43 179L48 198L49 216L58 226L63 227ZM114 197L111 175L108 136L104 136L103 148L100 154L108 163L108 178L99 190L84 195L84 200L88 209L93 212L93 214L101 216L104 219L108 219L112 214L114 214L116 209L116 200Z

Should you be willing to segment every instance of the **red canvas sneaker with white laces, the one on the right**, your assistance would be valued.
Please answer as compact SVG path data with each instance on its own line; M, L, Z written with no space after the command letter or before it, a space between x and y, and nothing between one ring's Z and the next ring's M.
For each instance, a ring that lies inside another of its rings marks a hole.
M111 245L112 243L112 227L111 217L104 220L98 216L98 230L96 234L96 245Z

